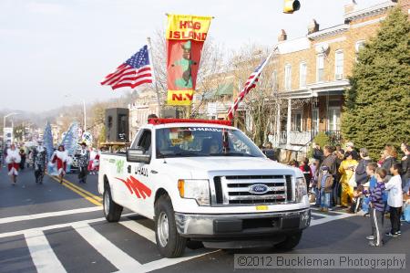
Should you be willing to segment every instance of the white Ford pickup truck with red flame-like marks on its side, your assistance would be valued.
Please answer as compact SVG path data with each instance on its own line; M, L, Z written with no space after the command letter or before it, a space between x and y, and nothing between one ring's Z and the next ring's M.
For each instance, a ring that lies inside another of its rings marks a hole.
M103 153L108 222L123 207L155 221L159 253L205 247L295 247L311 214L302 172L266 158L228 121L152 119L127 153Z

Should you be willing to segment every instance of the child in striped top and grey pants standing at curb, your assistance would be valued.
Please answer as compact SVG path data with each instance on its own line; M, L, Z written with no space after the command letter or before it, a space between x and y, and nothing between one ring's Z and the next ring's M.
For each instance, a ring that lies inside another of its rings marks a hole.
M382 247L384 244L384 177L387 172L383 168L377 168L375 173L377 184L370 192L370 222L372 226L372 235L367 236L366 238L370 240L370 246Z

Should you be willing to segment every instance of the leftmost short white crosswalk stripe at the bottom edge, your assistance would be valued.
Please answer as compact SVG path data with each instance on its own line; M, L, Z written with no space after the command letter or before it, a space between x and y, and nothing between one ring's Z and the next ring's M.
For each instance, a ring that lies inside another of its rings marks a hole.
M67 272L40 230L26 232L26 244L38 273Z

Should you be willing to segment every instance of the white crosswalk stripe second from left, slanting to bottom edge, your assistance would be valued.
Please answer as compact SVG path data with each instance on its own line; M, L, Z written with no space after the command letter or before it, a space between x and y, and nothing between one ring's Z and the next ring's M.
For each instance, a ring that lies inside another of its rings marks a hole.
M120 271L142 272L142 266L137 260L128 256L127 253L116 247L88 224L75 224L73 227L80 236Z

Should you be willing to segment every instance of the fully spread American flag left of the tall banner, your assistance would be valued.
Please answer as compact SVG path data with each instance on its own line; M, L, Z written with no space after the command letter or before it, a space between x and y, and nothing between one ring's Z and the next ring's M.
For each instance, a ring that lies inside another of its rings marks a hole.
M101 85L109 85L112 89L138 87L143 83L151 83L152 74L149 65L147 45L138 50L131 58L121 64L116 71L106 76Z

